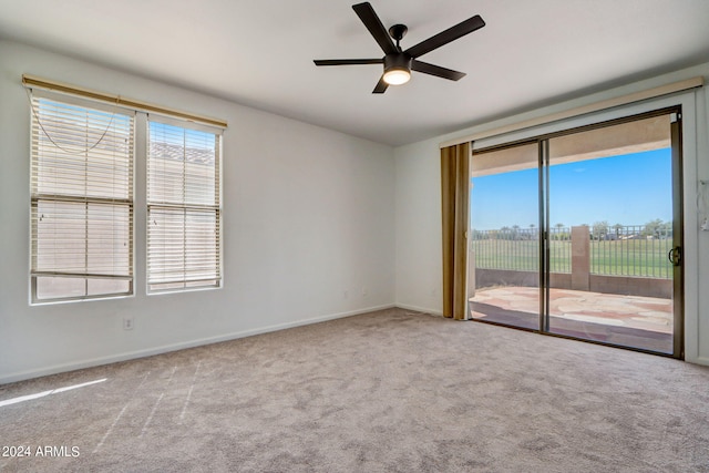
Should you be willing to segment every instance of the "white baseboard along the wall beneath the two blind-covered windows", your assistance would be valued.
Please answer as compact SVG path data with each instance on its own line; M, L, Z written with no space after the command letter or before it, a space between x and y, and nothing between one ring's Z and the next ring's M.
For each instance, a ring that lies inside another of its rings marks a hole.
M28 371L21 371L21 372L2 376L0 377L0 384L23 381L27 379L39 378L39 377L44 377L49 374L56 374L56 373L62 373L66 371L81 370L84 368L100 367L102 364L116 363L120 361L127 361L127 360L133 360L137 358L145 358L154 354L162 354L171 351L184 350L187 348L202 347L204 345L219 343L223 341L236 340L239 338L251 337L255 335L268 333L271 331L285 330L285 329L290 329L290 328L300 327L300 326L308 326L311 323L325 322L327 320L341 319L345 317L358 316L361 313L373 312L377 310L391 309L394 307L397 306L394 306L393 304L384 305L384 306L368 307L364 309L357 309L357 310L351 310L347 312L312 317L309 319L297 320L294 322L277 323L273 326L259 327L259 328L249 329L249 330L242 330L238 332L226 333L217 337L207 337L207 338L183 341L178 343L164 345L161 347L147 348L144 350L135 350L135 351L129 351L129 352L119 353L119 354L111 354L107 357L100 357L91 360L54 364L51 367L45 367L37 370L28 370Z

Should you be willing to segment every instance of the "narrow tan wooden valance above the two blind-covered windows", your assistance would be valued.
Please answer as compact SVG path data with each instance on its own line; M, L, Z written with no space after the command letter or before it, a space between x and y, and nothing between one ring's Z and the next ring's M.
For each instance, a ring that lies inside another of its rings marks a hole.
M42 78L38 78L30 74L22 74L22 84L30 89L39 88L44 90L69 93L69 94L79 95L86 99L97 100L101 102L123 105L129 109L140 110L143 112L154 112L163 115L177 116L188 121L205 123L205 124L218 126L222 128L226 128L227 126L227 123L224 120L210 119L208 116L202 116L202 115L196 115L194 113L182 112L179 110L173 110L173 109L155 105L147 102L126 99L121 95L97 92L90 89L80 88L76 85L64 84L62 82L51 81L49 79L42 79Z

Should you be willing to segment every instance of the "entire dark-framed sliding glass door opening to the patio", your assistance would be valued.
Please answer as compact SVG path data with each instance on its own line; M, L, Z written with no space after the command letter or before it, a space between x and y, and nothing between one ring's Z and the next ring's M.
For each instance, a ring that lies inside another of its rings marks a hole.
M473 319L681 356L679 110L473 153Z

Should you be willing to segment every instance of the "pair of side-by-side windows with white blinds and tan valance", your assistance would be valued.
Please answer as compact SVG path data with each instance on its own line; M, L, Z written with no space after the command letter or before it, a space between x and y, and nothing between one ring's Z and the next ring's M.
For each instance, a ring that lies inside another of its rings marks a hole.
M22 83L32 109L31 301L133 295L135 245L146 246L137 263L147 292L220 287L227 123L27 74ZM146 169L137 188L135 168ZM134 220L135 203L145 220Z

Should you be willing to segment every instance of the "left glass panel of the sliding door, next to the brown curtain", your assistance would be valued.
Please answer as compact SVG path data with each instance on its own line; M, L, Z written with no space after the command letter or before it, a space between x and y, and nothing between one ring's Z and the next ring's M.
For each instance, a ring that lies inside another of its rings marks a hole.
M540 153L526 143L472 161L469 296L473 318L540 323Z

